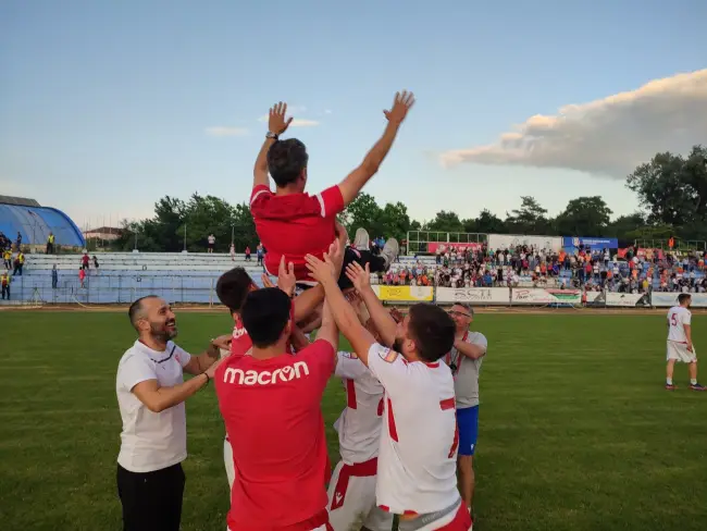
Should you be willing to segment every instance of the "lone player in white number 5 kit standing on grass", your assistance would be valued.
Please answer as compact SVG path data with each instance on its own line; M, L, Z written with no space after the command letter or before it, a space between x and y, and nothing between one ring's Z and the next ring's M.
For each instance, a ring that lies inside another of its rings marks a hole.
M692 297L689 293L678 295L679 306L673 306L668 311L668 368L666 370L666 388L672 391L675 385L672 383L672 371L675 361L689 363L690 388L693 391L705 391L707 387L697 383L697 354L692 344L692 313L690 304Z

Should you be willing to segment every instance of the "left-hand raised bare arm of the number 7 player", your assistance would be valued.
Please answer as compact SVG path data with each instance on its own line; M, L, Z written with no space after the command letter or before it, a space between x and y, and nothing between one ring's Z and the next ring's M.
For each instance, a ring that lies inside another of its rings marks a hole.
M307 269L309 269L312 277L324 287L326 296L324 305L327 307L327 311L330 311L334 318L338 330L342 331L344 336L351 344L354 351L356 351L361 361L368 366L369 350L371 345L375 343L375 338L373 337L373 334L365 330L365 328L360 323L356 311L351 308L351 305L349 305L339 289L335 266L331 262L327 254L324 254L324 261L311 255L308 255L306 260ZM324 324L322 322L322 328Z

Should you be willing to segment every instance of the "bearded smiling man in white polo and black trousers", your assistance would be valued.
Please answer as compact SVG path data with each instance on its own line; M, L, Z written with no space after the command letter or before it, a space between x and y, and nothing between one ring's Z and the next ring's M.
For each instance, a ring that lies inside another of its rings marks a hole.
M184 400L213 378L219 348L228 348L231 336L191 356L172 342L176 319L163 299L139 298L128 316L138 339L121 358L115 385L123 420L117 456L123 530L178 531L187 456ZM195 378L184 382L184 372Z

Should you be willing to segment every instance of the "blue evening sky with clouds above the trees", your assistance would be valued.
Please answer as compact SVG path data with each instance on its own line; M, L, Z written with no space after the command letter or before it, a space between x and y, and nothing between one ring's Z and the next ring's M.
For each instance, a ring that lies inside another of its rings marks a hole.
M707 2L4 0L0 194L82 227L151 217L165 196L247 201L277 101L310 153L308 190L339 182L417 103L364 188L412 218L550 215L707 144Z

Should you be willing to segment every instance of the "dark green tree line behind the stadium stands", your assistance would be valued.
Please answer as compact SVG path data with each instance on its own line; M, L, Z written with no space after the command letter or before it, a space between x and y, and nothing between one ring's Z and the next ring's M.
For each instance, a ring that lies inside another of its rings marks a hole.
M520 206L505 218L482 210L475 218L441 210L426 222L412 220L400 202L381 206L361 193L342 213L340 221L349 235L358 227L371 237L406 239L409 231L526 234L548 236L605 236L625 244L634 239L662 239L673 236L684 240L707 240L707 147L694 146L685 157L671 152L656 153L627 176L640 208L630 215L612 218L613 212L601 196L578 197L565 210L549 217L534 197L522 196ZM186 234L186 239L185 239ZM113 250L176 252L185 248L200 251L207 237L216 237L216 251L227 251L232 238L236 250L255 249L258 235L247 203L231 205L214 196L194 194L188 200L165 196L154 205L150 219L123 222L121 237Z

